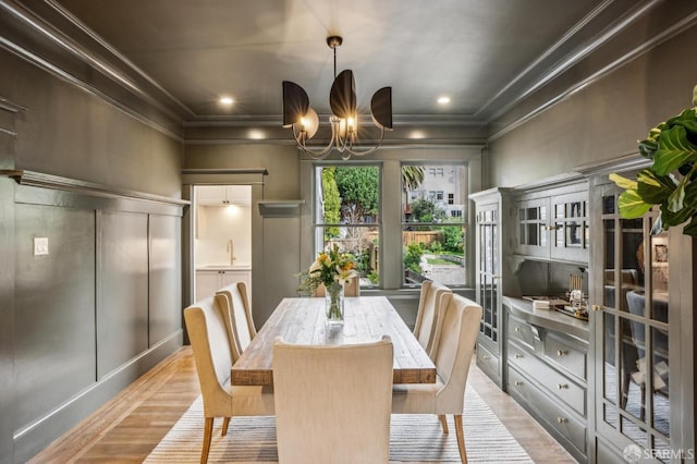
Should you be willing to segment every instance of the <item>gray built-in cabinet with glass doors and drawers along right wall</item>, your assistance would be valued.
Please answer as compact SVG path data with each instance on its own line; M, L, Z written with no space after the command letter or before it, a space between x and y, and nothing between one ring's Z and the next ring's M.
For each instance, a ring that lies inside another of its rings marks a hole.
M650 235L657 212L620 217L608 173L639 162L472 196L477 365L579 462L695 459L697 248L680 228ZM522 297L563 297L570 276L588 321Z

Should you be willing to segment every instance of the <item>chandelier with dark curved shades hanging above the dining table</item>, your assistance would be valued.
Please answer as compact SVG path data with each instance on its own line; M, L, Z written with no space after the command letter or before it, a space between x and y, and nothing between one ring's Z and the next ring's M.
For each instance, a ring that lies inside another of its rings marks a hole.
M345 70L337 75L337 47L343 39L339 36L327 37L327 45L334 50L334 82L329 93L329 117L331 139L326 147L314 148L307 142L319 129L317 112L310 108L307 93L299 85L283 81L283 127L292 127L297 148L314 159L326 158L332 149L337 149L342 159L351 156L365 156L377 150L384 139L384 131L392 130L392 87L382 87L372 95L370 114L372 123L380 130L377 145L359 149L358 114L356 113L356 83L353 71Z

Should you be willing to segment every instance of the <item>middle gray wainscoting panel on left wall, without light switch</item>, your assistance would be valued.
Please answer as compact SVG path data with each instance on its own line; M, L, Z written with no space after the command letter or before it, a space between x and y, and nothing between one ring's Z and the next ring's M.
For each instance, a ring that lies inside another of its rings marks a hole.
M97 378L148 347L148 217L100 211Z

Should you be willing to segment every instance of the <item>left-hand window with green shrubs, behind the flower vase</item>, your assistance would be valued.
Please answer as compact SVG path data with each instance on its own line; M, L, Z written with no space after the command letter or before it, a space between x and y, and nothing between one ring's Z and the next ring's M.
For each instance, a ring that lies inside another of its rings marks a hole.
M360 286L379 283L380 168L315 167L317 252L338 245L356 258Z

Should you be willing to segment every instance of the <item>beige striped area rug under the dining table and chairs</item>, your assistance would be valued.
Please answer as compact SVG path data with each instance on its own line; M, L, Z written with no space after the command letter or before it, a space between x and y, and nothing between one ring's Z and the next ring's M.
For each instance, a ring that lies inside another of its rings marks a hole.
M469 386L465 392L463 423L469 463L533 462ZM222 419L217 419L209 463L278 462L273 417L233 417L227 437L220 436L221 425ZM444 435L435 415L392 415L390 462L458 463L460 453L452 416L449 416L448 425L450 434ZM203 435L203 401L199 396L145 462L149 464L198 463Z

